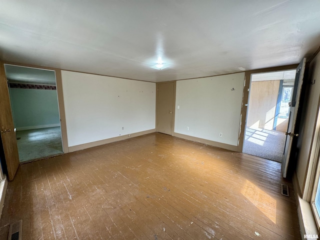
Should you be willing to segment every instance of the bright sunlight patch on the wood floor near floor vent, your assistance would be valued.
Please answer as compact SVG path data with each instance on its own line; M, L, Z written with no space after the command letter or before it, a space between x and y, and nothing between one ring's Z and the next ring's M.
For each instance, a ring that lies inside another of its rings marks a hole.
M273 223L276 223L276 200L274 198L249 180L245 180L241 193Z

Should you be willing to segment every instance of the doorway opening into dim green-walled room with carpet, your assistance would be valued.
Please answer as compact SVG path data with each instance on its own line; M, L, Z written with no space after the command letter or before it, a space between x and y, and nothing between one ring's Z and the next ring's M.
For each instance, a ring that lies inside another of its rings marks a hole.
M4 64L19 161L63 153L54 70Z

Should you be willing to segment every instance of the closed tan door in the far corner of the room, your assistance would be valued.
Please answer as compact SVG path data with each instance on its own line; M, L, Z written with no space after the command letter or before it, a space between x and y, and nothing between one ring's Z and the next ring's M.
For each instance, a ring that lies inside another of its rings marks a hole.
M157 124L158 132L173 134L174 82L157 84Z

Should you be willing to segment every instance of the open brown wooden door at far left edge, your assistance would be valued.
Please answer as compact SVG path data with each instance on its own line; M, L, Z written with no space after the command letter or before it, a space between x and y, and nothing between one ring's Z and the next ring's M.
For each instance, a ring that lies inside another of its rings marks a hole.
M19 154L3 62L0 62L0 128L8 179L12 180L19 166Z

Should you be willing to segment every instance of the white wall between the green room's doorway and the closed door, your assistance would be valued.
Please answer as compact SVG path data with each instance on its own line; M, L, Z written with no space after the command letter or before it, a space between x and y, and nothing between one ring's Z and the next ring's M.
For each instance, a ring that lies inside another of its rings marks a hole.
M69 146L155 128L154 82L64 70L61 75Z

